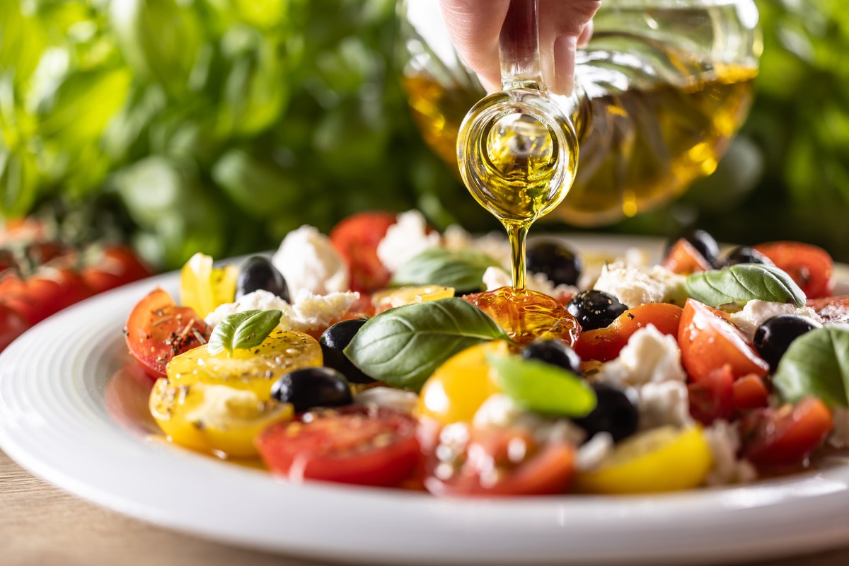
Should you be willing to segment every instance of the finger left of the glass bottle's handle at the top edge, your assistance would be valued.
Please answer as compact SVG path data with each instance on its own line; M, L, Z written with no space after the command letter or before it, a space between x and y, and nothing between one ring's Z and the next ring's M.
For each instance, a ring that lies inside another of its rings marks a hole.
M501 87L498 35L509 5L510 0L440 0L454 47L488 92Z

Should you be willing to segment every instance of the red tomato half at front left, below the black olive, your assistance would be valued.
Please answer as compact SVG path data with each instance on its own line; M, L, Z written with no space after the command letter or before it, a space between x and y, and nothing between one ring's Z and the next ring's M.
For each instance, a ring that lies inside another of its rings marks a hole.
M381 487L413 477L422 457L415 419L374 406L303 413L265 429L256 446L268 468L293 481Z

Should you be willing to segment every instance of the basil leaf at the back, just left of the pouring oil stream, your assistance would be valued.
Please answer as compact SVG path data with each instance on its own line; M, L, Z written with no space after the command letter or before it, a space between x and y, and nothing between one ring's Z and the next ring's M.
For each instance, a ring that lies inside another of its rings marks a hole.
M442 285L476 291L483 289L483 274L492 266L498 266L498 261L470 249L431 248L401 266L391 283L396 286Z

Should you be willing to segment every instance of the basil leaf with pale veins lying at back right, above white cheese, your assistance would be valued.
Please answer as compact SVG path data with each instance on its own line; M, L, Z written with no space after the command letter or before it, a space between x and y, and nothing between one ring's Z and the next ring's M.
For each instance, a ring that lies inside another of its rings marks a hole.
M693 299L711 306L755 299L805 306L805 294L787 273L756 263L693 273L684 282L684 289Z

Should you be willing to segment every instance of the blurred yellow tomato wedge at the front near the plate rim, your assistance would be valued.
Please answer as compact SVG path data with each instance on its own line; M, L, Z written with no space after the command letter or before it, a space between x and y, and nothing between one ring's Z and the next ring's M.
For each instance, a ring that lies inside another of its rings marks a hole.
M700 427L661 427L623 440L599 468L576 475L575 489L607 494L689 490L704 483L712 465Z

